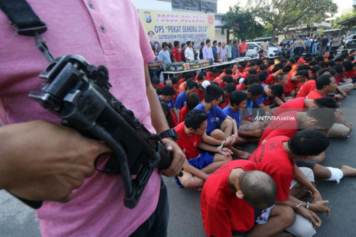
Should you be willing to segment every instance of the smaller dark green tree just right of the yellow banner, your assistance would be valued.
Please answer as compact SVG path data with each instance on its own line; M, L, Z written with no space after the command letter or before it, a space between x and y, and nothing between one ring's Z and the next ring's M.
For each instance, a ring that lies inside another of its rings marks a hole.
M255 13L250 8L241 8L238 5L234 7L230 6L228 12L226 12L223 21L227 23L223 26L224 29L228 29L234 38L241 39L253 39L260 37L264 33L264 27L256 20Z

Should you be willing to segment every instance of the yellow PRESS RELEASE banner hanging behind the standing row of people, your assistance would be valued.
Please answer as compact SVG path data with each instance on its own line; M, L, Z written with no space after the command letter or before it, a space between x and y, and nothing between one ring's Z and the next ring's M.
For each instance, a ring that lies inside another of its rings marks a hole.
M180 44L193 41L196 48L200 42L215 39L215 16L196 12L138 10L145 27L148 40L156 52L162 49L162 43L179 41Z

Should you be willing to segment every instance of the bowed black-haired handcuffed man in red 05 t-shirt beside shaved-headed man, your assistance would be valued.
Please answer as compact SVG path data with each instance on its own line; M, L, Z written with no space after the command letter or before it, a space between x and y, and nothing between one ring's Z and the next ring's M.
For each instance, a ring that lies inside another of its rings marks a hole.
M326 206L328 201L323 201L311 183L314 182L313 171L297 167L294 159L308 160L325 151L328 146L329 139L325 134L306 129L291 139L286 136L268 139L250 157L250 161L257 164L258 170L266 172L276 182L276 205L287 205L297 213L293 225L286 229L295 236L312 237L315 234L314 228L321 226L321 220L315 212L327 212L330 215L330 210ZM290 195L290 189L297 183L312 192L313 203L305 203Z

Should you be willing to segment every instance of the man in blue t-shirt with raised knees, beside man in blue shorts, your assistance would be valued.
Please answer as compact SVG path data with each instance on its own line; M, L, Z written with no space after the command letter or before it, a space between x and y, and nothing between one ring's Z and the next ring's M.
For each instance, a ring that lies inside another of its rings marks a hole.
M223 88L215 84L211 84L205 88L204 101L198 104L195 109L200 109L208 114L208 124L206 126L206 134L211 137L209 144L221 145L223 141L224 146L229 148L235 156L241 158L250 157L250 153L240 151L234 146L236 139L239 137L237 124L235 121L227 115L218 104L223 101L225 92ZM217 128L217 121L219 119L220 129Z

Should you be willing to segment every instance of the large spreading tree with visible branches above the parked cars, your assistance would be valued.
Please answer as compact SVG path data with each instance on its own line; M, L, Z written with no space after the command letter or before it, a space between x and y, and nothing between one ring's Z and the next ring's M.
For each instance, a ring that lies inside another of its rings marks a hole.
M333 0L249 0L249 4L256 6L253 11L263 23L272 25L272 41L280 31L320 23L326 13L333 15L337 12Z

